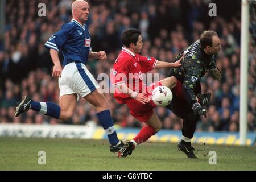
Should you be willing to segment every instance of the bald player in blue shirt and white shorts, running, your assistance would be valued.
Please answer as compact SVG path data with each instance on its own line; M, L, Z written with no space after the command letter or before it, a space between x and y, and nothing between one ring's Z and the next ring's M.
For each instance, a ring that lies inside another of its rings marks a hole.
M104 94L98 92L98 83L86 68L88 58L106 59L104 51L92 52L90 47L90 32L85 24L89 16L88 2L74 1L72 16L71 22L63 24L44 44L49 49L54 64L52 77L59 78L59 105L53 102L37 102L30 96L24 96L16 107L15 116L32 109L56 119L67 120L72 117L78 98L82 97L96 107L98 121L109 138L110 151L118 152L123 143L117 138L108 103ZM64 57L63 69L58 56L60 48Z

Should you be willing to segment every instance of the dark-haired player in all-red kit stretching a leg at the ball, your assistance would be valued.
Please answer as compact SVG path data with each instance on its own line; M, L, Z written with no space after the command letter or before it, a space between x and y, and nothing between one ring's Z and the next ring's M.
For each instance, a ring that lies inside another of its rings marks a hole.
M115 88L114 98L120 104L127 104L130 114L147 124L135 138L119 150L118 156L125 157L131 154L131 151L138 144L148 140L162 127L160 119L153 110L156 105L150 100L152 90L160 85L172 89L177 82L176 78L172 76L147 86L143 82L142 73L154 68L180 67L183 57L175 63L168 63L158 61L154 57L139 55L143 46L142 36L141 31L134 28L124 30L121 39L124 47L115 60L114 69L111 73L112 85Z

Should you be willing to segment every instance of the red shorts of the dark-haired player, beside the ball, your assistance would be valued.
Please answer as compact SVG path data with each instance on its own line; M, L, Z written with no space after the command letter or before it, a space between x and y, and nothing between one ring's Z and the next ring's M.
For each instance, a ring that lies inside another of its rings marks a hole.
M151 98L152 91L157 87L161 86L160 82L155 82L146 88L146 96ZM136 101L134 98L127 98L126 104L130 109L130 114L134 118L138 119L141 122L146 122L151 118L153 114L153 109L156 107L155 103L150 100L147 104L142 104L141 102Z

